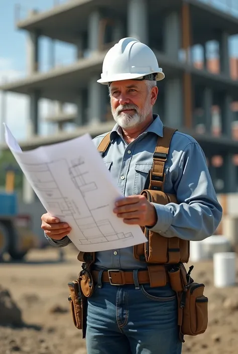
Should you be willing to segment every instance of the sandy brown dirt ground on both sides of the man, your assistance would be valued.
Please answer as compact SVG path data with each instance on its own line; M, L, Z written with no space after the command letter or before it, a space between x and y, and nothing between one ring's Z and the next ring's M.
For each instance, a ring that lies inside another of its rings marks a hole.
M67 283L77 278L80 264L74 249L65 251L63 263L58 250L47 248L29 253L25 263L0 264L0 286L9 290L24 321L19 328L0 325L0 354L86 354L67 301ZM238 286L215 289L211 261L196 263L192 275L206 285L209 325L204 334L185 337L183 353L237 353Z

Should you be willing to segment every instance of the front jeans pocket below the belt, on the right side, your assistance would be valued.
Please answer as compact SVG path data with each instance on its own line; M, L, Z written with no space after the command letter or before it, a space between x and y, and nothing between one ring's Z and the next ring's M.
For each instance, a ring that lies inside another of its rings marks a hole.
M175 292L168 286L151 288L150 285L146 284L146 285L141 285L140 289L143 295L145 295L148 299L154 301L166 302L166 301L171 301L176 299Z

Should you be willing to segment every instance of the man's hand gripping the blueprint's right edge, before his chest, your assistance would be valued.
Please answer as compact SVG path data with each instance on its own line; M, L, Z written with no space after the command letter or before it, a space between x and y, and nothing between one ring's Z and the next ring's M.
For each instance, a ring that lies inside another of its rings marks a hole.
M156 209L144 195L132 195L116 201L113 212L130 225L154 226L157 222Z

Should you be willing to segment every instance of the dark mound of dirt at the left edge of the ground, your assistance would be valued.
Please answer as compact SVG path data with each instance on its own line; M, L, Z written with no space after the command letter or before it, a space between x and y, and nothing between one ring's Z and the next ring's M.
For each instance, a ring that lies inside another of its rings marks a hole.
M19 327L23 325L22 311L12 299L9 290L0 285L0 325Z

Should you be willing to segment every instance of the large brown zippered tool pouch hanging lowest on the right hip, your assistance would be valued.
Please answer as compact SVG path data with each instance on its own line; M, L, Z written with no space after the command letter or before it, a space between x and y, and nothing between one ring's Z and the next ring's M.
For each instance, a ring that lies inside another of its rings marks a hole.
M204 296L204 284L192 282L182 292L179 311L182 311L181 332L183 335L198 335L205 332L208 324L208 298ZM179 316L181 318L181 316Z

